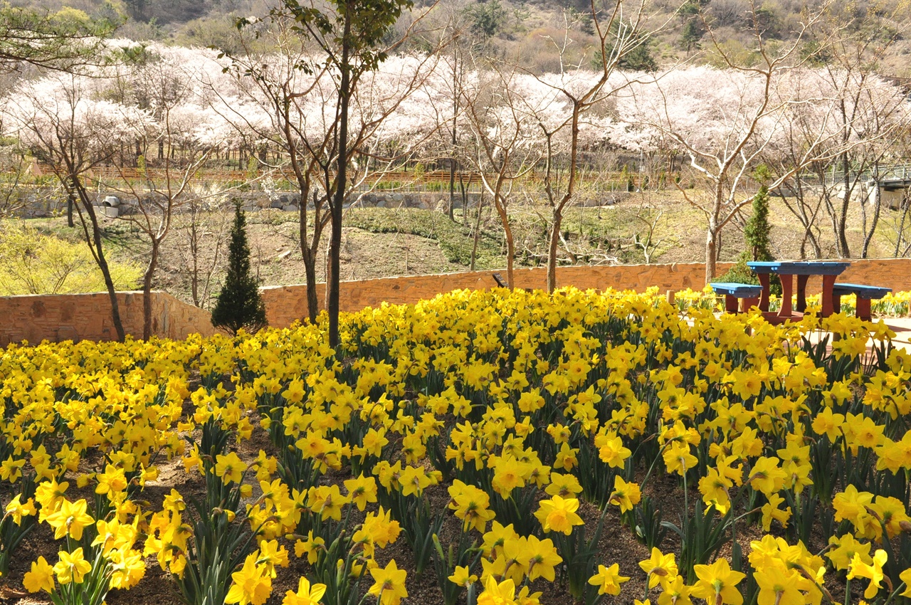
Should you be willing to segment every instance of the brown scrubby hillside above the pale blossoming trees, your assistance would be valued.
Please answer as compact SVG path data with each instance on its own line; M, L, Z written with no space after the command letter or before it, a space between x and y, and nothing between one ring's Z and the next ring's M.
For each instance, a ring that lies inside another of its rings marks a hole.
M237 44L234 20L238 16L265 15L278 0L13 0L13 4L31 5L55 11L63 6L82 10L87 15L126 18L118 36L133 39L157 39L184 46L215 46L234 50ZM820 3L823 0L808 0ZM418 0L426 5L429 0ZM680 2L685 4L680 5ZM911 77L911 40L906 30L911 25L911 12L890 2L868 3L866 0L836 0L826 8L827 14L843 21L843 32L872 31L881 36L876 45L886 48L875 56L875 70L890 77ZM839 4L841 3L841 4ZM753 6L756 6L753 8ZM659 35L649 40L637 56L630 57L630 69L648 69L680 62L710 63L722 67L715 43L729 56L749 62L754 55L755 40L748 31L758 25L763 38L774 46L787 42L801 26L804 3L794 0L653 0L653 22L667 21ZM439 10L463 15L463 26L473 36L486 40L488 51L510 56L542 71L553 71L561 65L597 62L591 36L589 0L440 0ZM838 15L838 16L834 16ZM870 16L873 15L873 16ZM871 26L870 20L876 23ZM714 39L706 35L711 24ZM562 56L557 47L569 26L572 44ZM888 44L883 44L888 37ZM875 45L865 48L875 53ZM813 46L807 45L807 52ZM842 51L850 54L853 49ZM831 54L819 53L819 60L833 60Z

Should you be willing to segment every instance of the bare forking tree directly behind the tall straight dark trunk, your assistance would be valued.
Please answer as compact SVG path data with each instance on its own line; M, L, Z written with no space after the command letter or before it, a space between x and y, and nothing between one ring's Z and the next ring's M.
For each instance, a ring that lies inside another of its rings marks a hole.
M273 50L257 52L245 39L246 53L231 57L231 73L238 89L245 94L246 102L258 106L264 118L246 116L230 103L223 103L220 112L237 128L268 141L279 154L278 161L266 163L266 168L296 186L308 316L315 322L319 310L316 262L323 230L333 228L327 272L332 278L343 209L372 190L384 174L414 159L415 150L433 129L422 119L426 108L414 104L407 108L411 114L411 124L407 124L403 104L412 103L415 98L425 99L426 79L435 73L436 56L399 56L370 69L363 68L345 85L349 92L342 111L339 78L343 74L334 63L340 57L326 61L327 43L314 43L312 36L300 36L297 23L290 15L274 13L268 26L260 25L256 31L261 38L268 36ZM397 41L393 47L400 43ZM246 86L249 82L253 88ZM420 100L416 103L420 104ZM405 136L402 130L389 131L386 122L393 118L399 120L399 128L410 127ZM337 230L333 222L336 220ZM332 292L333 288L327 288L327 307L333 302L328 300Z

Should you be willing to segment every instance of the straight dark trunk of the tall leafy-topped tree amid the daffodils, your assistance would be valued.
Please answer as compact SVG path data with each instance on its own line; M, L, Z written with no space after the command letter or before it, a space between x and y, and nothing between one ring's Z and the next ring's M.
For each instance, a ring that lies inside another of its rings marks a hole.
M342 279L340 257L342 254L342 207L347 188L348 169L348 104L351 96L351 66L348 64L351 46L352 6L348 3L344 16L342 33L342 81L339 86L339 156L338 176L336 179L335 201L332 206L333 230L329 241L329 275L326 280L328 288L326 310L329 312L329 346L339 345L339 282Z

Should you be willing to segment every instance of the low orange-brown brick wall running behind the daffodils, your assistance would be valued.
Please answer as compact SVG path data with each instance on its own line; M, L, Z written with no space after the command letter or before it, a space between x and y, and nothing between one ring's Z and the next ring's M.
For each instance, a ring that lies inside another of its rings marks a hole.
M730 264L719 263L719 272L726 271ZM440 292L492 288L496 286L492 273L458 272L343 282L341 306L343 311L358 311L381 302L413 303L433 298ZM660 292L680 291L700 289L704 274L701 262L560 267L558 285L639 292L656 286ZM515 275L517 288L544 288L546 285L547 272L544 268L517 269ZM839 281L885 286L894 292L911 291L911 259L852 261ZM819 278L812 278L807 286L808 292L818 292L819 287ZM318 285L321 307L323 288L324 284ZM261 292L270 325L285 327L306 317L305 286L275 286L262 288ZM120 292L118 296L124 328L127 333L138 337L142 334L142 294ZM165 292L154 292L153 296L153 333L177 339L189 333L215 333L209 312L180 302ZM117 335L111 323L106 293L0 297L0 318L0 346L23 339L32 343L43 339L110 340Z

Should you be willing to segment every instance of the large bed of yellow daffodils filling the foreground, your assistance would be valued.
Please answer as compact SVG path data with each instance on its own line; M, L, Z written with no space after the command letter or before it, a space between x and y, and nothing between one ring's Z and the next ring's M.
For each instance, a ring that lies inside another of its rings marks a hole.
M73 605L148 566L191 605L394 605L416 577L445 605L911 596L911 355L885 323L498 290L341 333L9 346L0 581Z

